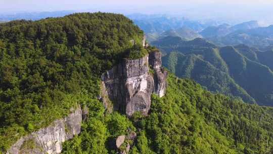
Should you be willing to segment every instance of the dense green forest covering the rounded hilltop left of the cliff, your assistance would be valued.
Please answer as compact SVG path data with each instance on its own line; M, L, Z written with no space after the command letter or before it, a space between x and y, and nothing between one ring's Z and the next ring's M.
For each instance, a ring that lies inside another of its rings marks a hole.
M0 24L0 151L97 98L100 75L142 38L131 20L110 13Z

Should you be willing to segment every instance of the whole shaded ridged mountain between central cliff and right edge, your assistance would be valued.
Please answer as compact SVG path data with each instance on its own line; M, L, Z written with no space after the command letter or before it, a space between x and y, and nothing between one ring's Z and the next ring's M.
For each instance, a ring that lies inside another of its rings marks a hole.
M153 44L165 52L163 65L177 76L194 79L210 91L239 96L249 103L273 105L273 52L245 45L219 48L201 40L186 42L165 37Z

